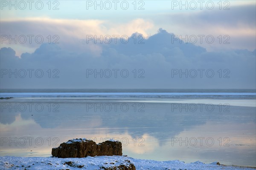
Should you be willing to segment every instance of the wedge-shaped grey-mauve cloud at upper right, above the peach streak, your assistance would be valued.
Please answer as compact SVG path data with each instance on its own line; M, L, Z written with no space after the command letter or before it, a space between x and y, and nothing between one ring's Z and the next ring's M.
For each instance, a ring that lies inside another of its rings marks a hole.
M236 27L238 25L255 28L256 9L255 6L229 6L229 10L201 10L189 13L169 13L157 16L159 22L163 20L181 25L189 26L227 26Z

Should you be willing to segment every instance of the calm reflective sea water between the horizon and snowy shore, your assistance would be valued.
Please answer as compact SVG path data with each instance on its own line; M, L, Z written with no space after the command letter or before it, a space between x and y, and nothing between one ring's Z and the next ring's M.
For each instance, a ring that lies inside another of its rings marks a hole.
M255 89L1 89L0 156L114 138L134 158L256 166Z

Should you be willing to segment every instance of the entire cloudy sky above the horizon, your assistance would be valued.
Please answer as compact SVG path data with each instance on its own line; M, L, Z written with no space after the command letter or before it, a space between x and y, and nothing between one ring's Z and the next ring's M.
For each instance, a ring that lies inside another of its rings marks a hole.
M254 0L0 0L0 88L256 88Z

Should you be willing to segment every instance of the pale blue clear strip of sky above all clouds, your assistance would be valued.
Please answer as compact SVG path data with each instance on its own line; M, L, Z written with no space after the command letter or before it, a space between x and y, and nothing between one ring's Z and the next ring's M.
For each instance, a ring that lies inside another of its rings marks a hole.
M105 3L107 0L102 0L102 4ZM218 9L220 7L220 1L222 2L221 8L232 7L233 6L243 6L243 5L255 5L254 0L213 0L214 9ZM3 5L7 2L7 6ZM19 1L17 1L18 4ZM26 2L26 1L25 1ZM34 1L36 2L36 1ZM200 4L202 4L202 9L207 10L206 4L209 0L204 0L202 3L196 2L197 8L194 8L195 3L193 0L187 0L188 9L186 10L185 6L182 6L180 10L180 0L173 1L173 0L144 0L141 1L137 0L137 9L139 7L144 8L144 10L134 10L134 0L128 0L129 8L127 10L122 10L120 8L120 3L123 2L119 0L117 4L117 10L114 10L114 4L112 0L110 0L112 8L110 10L103 9L99 10L99 6L96 8L98 10L94 10L94 0L93 6L89 6L86 9L87 0L58 0L56 3L55 0L51 0L51 9L54 7L59 8L59 10L49 10L49 0L43 0L44 8L38 10L35 8L35 3L32 3L32 9L29 9L29 3L26 3L26 9L21 10L17 7L17 10L9 10L9 1L1 0L1 20L7 19L16 19L16 18L24 18L24 17L51 17L51 18L58 18L58 19L117 19L121 20L121 18L132 18L132 17L140 17L140 15L148 15L148 14L161 14L161 13L190 13L190 12L197 12L201 11ZM55 2L55 3L53 3ZM140 2L140 3L139 3ZM143 2L143 3L142 3ZM227 3L229 2L229 3ZM99 3L99 0L98 0ZM177 4L178 3L178 4ZM185 3L185 1L183 1ZM125 3L124 3L125 4ZM189 6L189 4L191 4ZM108 3L106 4L106 6ZM209 3L209 6L211 3ZM21 8L23 4L20 4ZM38 4L40 6L40 3ZM124 5L125 6L125 5ZM191 7L191 8L190 8ZM14 9L14 6L11 6ZM115 15L118 14L118 15ZM139 15L139 16L138 16Z

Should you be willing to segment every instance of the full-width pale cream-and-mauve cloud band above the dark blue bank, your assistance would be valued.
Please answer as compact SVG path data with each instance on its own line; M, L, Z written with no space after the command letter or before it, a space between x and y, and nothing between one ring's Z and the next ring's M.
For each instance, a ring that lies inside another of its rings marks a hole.
M24 52L32 53L41 43L35 42L37 35L44 37L43 43L59 43L63 49L75 52L93 52L99 56L101 46L90 44L84 46L83 40L87 35L122 35L131 36L134 32L143 34L145 38L154 35L159 27L164 27L168 32L175 32L185 38L186 35L195 35L198 40L196 45L206 48L208 51L219 49L249 49L254 50L256 10L253 5L230 5L230 10L195 10L165 11L152 15L140 15L126 20L107 20L98 17L95 20L61 19L51 17L24 17L23 19L1 20L1 35L34 35L32 43L15 44L14 41L4 40L2 47L15 49L18 56ZM101 18L101 19L100 19ZM17 29L19 28L19 29ZM49 38L50 35L50 38ZM58 37L56 37L57 35ZM204 35L200 43L198 35ZM214 37L213 43L207 43L207 35ZM219 35L221 35L221 40ZM224 37L228 35L229 37ZM55 36L55 37L53 37ZM2 37L1 37L2 38ZM2 38L3 39L3 38ZM49 40L50 39L50 40ZM39 38L40 40L40 38ZM228 44L224 44L227 40ZM220 43L221 42L221 43ZM190 42L191 43L191 42Z

